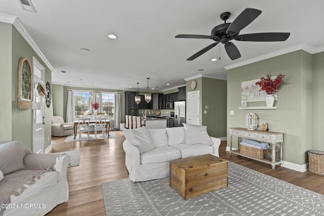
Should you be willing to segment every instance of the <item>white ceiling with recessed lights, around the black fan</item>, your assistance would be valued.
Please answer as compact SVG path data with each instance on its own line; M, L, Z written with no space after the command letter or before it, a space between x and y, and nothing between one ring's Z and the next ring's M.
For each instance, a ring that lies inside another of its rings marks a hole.
M162 91L184 85L184 78L197 74L226 79L224 67L264 55L301 46L311 53L324 51L322 0L31 0L37 13L23 11L18 1L1 0L0 13L18 18L54 68L55 84L83 87L83 79L86 85L94 81L95 88L135 90L139 82L145 90L149 77L149 87ZM290 37L282 42L232 40L241 53L234 61L222 44L186 61L214 41L175 38L177 34L210 35L224 22L221 13L230 12L227 22L232 22L245 8L262 13L240 34L291 32ZM117 39L108 38L109 33Z

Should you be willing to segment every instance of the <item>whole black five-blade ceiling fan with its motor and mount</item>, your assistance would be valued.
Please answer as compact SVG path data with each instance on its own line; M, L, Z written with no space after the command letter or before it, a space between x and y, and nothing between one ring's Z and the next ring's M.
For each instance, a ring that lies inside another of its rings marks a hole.
M227 55L231 60L235 60L241 57L237 47L230 42L230 40L239 41L285 41L289 37L289 32L265 32L265 33L251 33L251 34L239 34L239 31L248 26L253 20L255 20L262 11L254 8L245 9L232 23L226 23L226 20L230 17L231 13L224 12L221 14L221 19L224 20L223 24L220 24L212 29L211 35L196 35L196 34L178 34L176 38L203 38L213 39L216 42L205 47L203 50L198 51L187 59L187 61L194 60L200 55L203 55L213 47L221 42L224 44Z

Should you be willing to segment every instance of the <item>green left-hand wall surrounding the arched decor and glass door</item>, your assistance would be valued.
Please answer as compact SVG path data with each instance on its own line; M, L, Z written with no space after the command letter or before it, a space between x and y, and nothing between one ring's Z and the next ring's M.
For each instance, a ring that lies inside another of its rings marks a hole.
M2 79L0 88L4 105L0 114L1 141L22 142L32 151L32 110L17 109L18 104L18 65L21 58L27 58L32 64L35 57L45 67L45 79L51 82L52 72L38 57L26 40L12 24L0 22L0 72ZM51 112L45 108L45 140L46 149L51 137Z

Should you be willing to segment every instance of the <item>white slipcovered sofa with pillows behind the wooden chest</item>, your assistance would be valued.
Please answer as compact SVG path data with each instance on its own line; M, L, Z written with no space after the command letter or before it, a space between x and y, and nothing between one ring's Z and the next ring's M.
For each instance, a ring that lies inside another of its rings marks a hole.
M204 154L219 156L219 138L206 126L184 124L165 129L124 129L123 148L129 179L142 182L169 176L169 162Z

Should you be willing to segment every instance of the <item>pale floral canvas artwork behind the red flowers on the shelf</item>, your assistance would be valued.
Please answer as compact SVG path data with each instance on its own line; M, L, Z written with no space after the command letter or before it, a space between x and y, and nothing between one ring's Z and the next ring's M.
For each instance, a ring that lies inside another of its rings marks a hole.
M271 76L272 79L275 79L276 76ZM261 79L254 79L249 81L241 82L241 95L247 96L247 102L257 102L265 101L266 93L264 91L259 91L261 88L256 85L257 81ZM277 93L273 94L274 100L277 100Z

